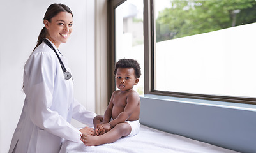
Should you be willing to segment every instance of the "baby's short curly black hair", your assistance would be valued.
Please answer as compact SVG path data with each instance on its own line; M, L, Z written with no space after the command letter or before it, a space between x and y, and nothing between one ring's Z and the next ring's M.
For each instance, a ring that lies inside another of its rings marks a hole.
M140 78L140 64L135 59L119 59L115 66L114 75L116 75L118 68L133 68L135 71L135 77Z

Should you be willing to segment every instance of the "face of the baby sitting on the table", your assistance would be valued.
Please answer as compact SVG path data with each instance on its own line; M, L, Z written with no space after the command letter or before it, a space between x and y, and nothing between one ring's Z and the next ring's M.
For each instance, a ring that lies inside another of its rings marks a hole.
M121 91L128 91L139 82L133 68L118 68L116 71L116 87Z

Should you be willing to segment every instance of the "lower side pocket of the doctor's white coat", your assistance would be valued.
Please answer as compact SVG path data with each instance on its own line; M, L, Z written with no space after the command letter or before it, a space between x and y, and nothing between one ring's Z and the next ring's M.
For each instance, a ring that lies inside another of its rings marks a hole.
M36 153L56 153L61 149L62 138L40 129L38 130L38 140Z

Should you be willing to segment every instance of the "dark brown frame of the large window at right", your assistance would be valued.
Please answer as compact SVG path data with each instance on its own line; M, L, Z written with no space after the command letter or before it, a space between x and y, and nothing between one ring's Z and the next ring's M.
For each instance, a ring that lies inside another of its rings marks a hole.
M144 0L144 94L156 94L179 98L206 99L211 101L227 101L232 103L248 103L256 105L256 98L215 96L155 90L154 53L156 43L156 28L154 25L154 20L154 0Z

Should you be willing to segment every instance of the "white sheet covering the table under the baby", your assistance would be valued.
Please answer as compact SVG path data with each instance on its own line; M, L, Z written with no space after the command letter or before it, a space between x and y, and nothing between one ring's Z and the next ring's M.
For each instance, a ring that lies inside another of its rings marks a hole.
M124 137L114 143L86 147L82 142L70 142L64 140L60 153L79 153L79 152L103 152L103 153L121 153L121 152L161 152L161 153L234 153L232 150L223 149L210 145L209 143L199 142L179 135L173 135L158 131L141 125L137 135Z

